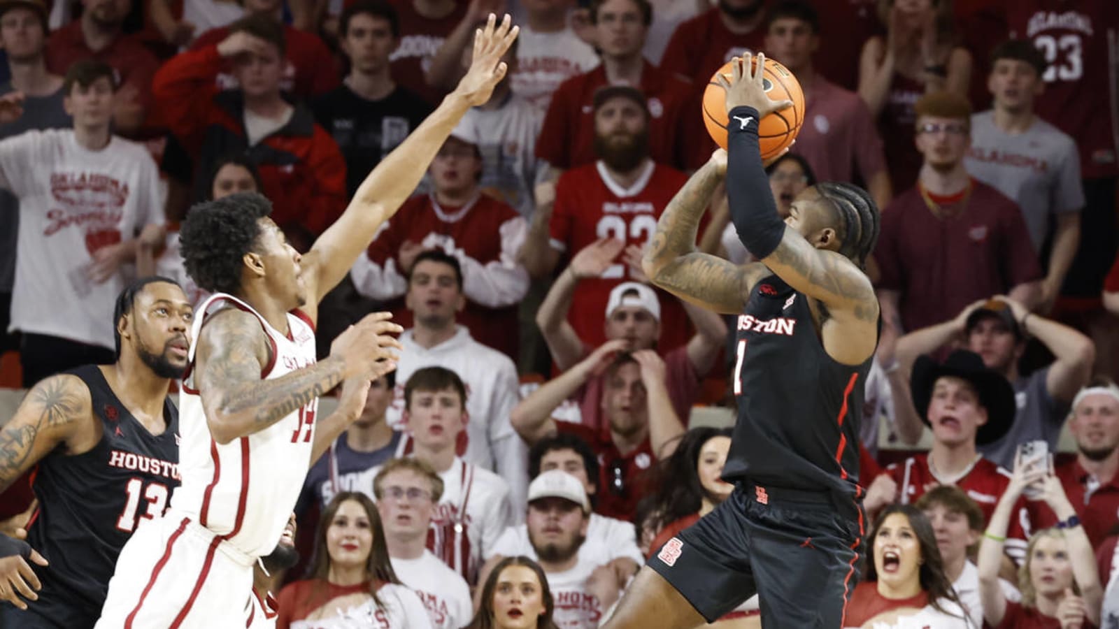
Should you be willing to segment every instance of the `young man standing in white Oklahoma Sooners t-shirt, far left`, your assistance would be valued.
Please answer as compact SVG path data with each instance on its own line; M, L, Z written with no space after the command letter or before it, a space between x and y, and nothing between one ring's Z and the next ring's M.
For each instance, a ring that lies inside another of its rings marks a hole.
M113 362L107 314L134 273L124 265L135 260L141 240L162 241L156 162L111 130L116 87L112 67L78 62L63 82L74 128L0 142L0 186L20 200L10 326L23 335L25 386ZM16 94L0 101L0 122L21 114Z

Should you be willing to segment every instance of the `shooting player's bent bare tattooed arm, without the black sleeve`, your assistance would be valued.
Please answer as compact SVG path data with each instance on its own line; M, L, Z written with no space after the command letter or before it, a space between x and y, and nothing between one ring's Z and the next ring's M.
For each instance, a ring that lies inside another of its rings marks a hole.
M696 250L699 218L725 169L725 153L716 151L676 193L657 222L641 267L649 281L680 299L716 312L737 314L750 289L768 271L758 263L740 266Z

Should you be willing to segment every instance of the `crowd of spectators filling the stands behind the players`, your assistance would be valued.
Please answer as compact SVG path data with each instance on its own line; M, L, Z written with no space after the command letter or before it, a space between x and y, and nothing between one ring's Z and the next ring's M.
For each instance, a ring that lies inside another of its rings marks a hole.
M508 75L322 304L323 354L375 310L404 349L307 478L281 627L339 599L394 627L596 627L726 497L730 432L692 423L734 407L727 321L640 260L714 149L708 77L747 50L805 92L779 210L817 181L882 210L854 626L1119 622L1108 0L0 0L0 384L112 362L133 278L200 302L195 203L261 193L305 251L491 11L521 29ZM696 246L752 259L722 189Z

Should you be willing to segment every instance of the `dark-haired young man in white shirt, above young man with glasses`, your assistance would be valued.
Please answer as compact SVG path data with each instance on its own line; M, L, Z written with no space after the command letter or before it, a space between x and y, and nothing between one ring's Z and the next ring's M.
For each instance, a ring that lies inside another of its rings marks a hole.
M487 548L510 524L509 486L496 473L455 454L470 420L462 379L443 367L424 367L404 385L404 426L412 454L435 470L442 496L432 514L435 555L467 580L477 582Z

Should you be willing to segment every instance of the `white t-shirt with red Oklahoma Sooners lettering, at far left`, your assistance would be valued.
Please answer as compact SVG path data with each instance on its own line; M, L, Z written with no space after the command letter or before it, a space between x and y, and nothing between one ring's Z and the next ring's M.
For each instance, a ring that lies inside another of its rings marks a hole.
M70 129L28 131L0 141L0 186L20 199L9 330L113 347L113 307L134 272L96 284L86 270L94 252L164 223L151 154L115 137L91 151Z

